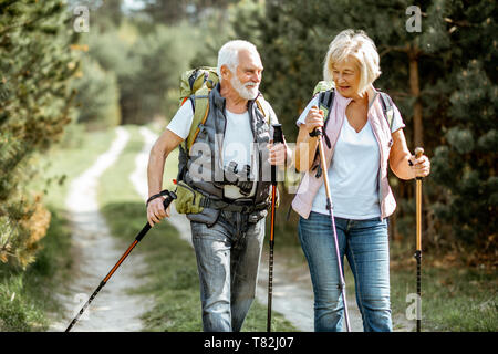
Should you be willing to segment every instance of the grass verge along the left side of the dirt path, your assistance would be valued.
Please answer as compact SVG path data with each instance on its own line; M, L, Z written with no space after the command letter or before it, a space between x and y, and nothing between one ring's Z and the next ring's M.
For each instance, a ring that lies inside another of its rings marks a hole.
M69 181L107 148L110 137L111 132L86 134L81 146L54 147L33 159L41 173L29 189L45 190L51 221L37 260L25 270L0 264L0 331L46 331L48 314L59 311L53 294L71 269L71 231L63 211Z

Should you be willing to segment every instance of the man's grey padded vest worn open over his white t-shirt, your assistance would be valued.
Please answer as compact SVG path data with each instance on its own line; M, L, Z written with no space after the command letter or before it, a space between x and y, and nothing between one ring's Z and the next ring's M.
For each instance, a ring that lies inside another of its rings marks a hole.
M259 96L248 102L248 113L253 142L256 144L256 160L258 176L255 176L256 192L252 197L225 199L224 186L228 183L224 176L222 148L227 118L225 115L225 97L219 93L219 84L209 93L207 118L199 124L199 132L186 152L180 145L178 157L178 177L176 207L178 212L186 214L193 221L214 223L220 210L251 214L266 210L269 206L270 180L263 178L263 173L270 170L268 149L270 142L267 123L268 103ZM195 96L191 96L195 100ZM193 104L193 107L195 105ZM249 146L247 148L250 148ZM261 212L261 217L266 214Z

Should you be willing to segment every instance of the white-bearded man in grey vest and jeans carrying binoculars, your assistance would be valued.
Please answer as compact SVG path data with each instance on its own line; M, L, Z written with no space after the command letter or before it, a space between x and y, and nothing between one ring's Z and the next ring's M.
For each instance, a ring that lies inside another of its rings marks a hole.
M203 201L201 208L184 208L190 210L203 329L236 332L256 296L270 202L270 180L263 171L270 165L283 166L290 150L286 144L271 144L271 125L278 121L259 93L263 66L256 46L241 40L226 43L218 52L217 71L219 83L209 93L207 119L189 152L183 150L189 155L180 156L187 163L178 188L191 191L194 199L186 202L195 202L195 196L197 207L199 198ZM153 146L149 196L162 190L165 160L187 138L193 117L188 100ZM162 202L156 198L148 204L151 225L169 217Z

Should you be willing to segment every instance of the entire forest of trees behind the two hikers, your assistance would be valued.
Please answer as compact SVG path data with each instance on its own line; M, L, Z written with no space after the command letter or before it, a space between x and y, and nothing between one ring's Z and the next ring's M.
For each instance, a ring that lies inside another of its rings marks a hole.
M157 122L178 107L180 74L216 66L230 39L253 42L261 92L288 142L344 29L376 43L375 86L400 107L408 146L432 160L424 179L424 252L496 270L498 18L495 1L0 0L0 267L25 270L51 222L37 157L85 132ZM391 175L393 242L414 243L413 181ZM279 210L282 235L292 196ZM293 232L283 232L293 230ZM294 236L293 236L294 237Z

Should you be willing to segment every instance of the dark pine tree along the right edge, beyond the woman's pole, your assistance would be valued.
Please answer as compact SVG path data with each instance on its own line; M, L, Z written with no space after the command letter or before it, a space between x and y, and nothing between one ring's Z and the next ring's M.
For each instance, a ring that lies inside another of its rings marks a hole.
M498 206L498 9L494 1L453 8L454 67L447 122L435 149L434 179L445 188L435 212L450 240L474 250L469 261L496 262ZM470 247L469 247L470 246Z

